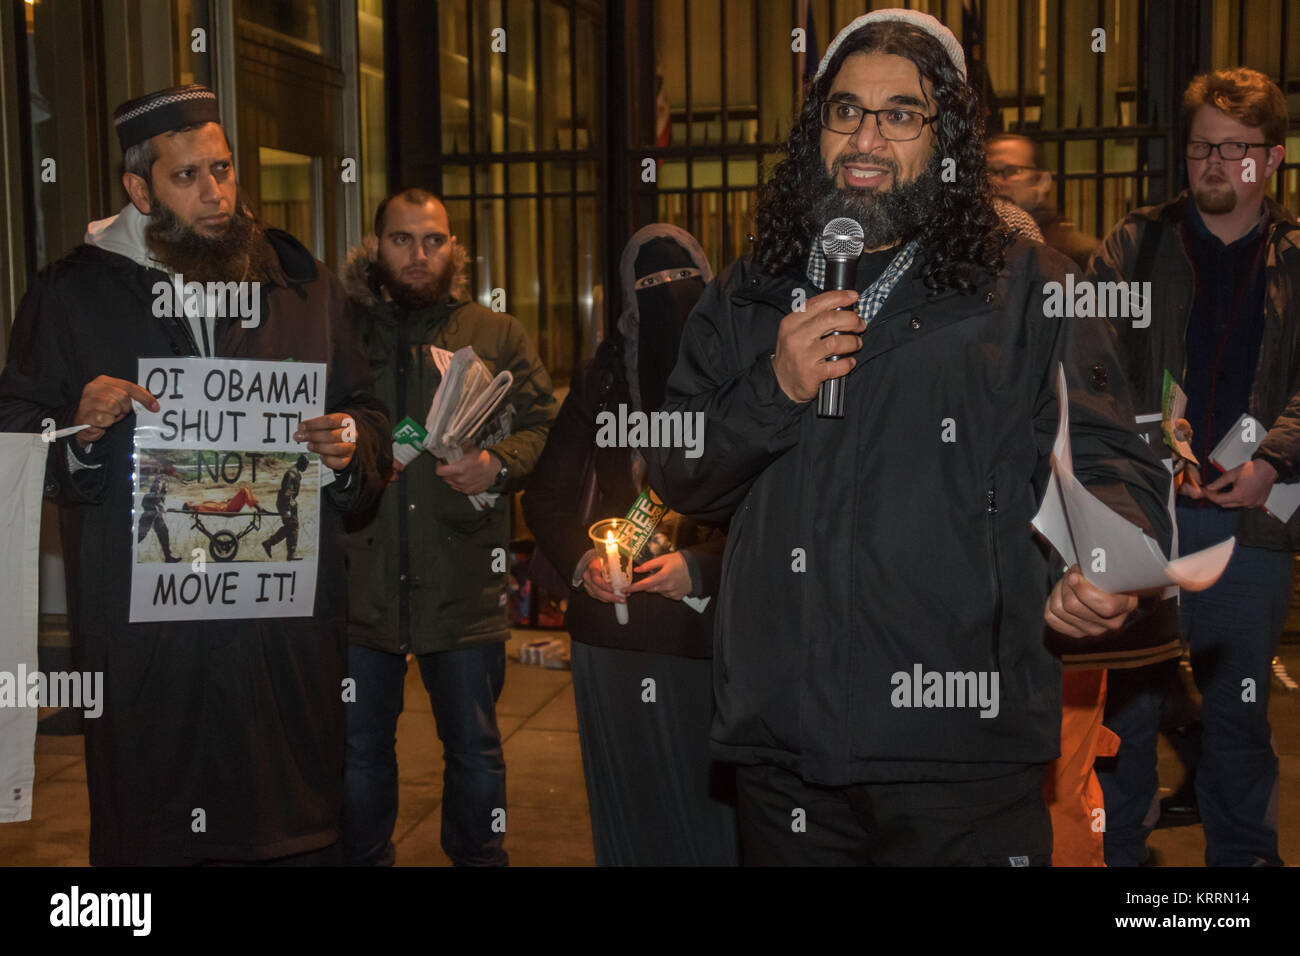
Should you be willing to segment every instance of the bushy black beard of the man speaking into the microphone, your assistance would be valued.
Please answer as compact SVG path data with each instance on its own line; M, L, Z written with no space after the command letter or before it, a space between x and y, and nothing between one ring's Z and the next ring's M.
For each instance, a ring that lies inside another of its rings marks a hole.
M836 176L845 163L870 161L887 166L894 185L885 191L874 189L841 189ZM848 216L862 225L864 248L892 246L901 239L910 239L919 233L935 215L937 207L940 179L940 157L931 157L930 165L915 179L898 182L898 166L888 156L844 155L835 160L833 169L827 173L819 165L822 176L810 187L815 195L809 198L814 221L826 224L832 219ZM820 163L820 159L818 159Z

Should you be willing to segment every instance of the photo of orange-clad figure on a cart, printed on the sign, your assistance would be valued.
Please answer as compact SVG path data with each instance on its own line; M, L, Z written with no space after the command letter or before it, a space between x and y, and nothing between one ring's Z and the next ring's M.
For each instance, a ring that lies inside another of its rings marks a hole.
M315 454L140 449L135 562L316 558L320 460Z

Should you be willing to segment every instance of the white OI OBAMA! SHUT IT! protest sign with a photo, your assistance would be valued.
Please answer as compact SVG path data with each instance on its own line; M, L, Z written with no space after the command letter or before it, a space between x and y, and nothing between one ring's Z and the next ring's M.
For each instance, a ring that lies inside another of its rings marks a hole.
M140 359L131 620L311 615L321 466L294 441L325 365Z

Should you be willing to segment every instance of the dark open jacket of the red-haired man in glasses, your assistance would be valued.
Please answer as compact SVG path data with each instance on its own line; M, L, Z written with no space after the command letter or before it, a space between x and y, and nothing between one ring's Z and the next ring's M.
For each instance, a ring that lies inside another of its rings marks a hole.
M1187 321L1192 310L1192 265L1180 225L1190 194L1131 213L1106 237L1092 259L1091 277L1100 281L1150 281L1150 326L1114 320L1119 355L1140 412L1160 411L1165 369L1182 382L1187 372ZM1254 371L1248 411L1269 436L1256 451L1278 472L1278 481L1300 480L1300 224L1266 199L1269 234L1265 250L1264 341ZM1158 238L1150 265L1135 276L1139 250L1152 228ZM1300 511L1283 524L1261 509L1240 509L1236 536L1242 544L1271 550L1300 550Z

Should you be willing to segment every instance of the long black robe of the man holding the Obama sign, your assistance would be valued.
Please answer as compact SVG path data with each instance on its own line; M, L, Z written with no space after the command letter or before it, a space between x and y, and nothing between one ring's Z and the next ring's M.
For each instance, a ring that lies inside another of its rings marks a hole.
M135 418L94 444L101 468L70 473L62 444L48 457L78 667L104 674L103 715L86 721L95 865L260 860L338 838L342 512L378 493L389 425L342 289L287 233L270 230L270 239L281 271L263 286L261 324L218 320L216 354L326 363L326 410L356 421L354 464L321 496L313 617L127 623ZM151 290L164 278L91 246L42 271L18 308L0 375L0 431L40 431L46 416L69 425L96 376L135 381L140 356L196 354L183 319L152 313Z

